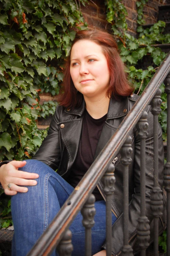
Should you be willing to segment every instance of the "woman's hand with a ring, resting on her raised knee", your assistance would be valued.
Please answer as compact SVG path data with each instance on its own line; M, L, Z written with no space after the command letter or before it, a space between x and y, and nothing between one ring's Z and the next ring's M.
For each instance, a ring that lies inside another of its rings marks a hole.
M27 192L28 188L21 186L34 186L37 184L37 181L31 179L37 179L39 177L38 174L18 170L18 168L25 165L26 161L11 161L1 166L0 182L4 188L5 194L13 196L17 194L17 192ZM8 188L9 183L11 184L10 189Z

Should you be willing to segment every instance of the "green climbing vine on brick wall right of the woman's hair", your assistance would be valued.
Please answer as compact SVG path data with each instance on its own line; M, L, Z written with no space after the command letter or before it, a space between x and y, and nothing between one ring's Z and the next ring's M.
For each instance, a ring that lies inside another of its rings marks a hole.
M143 8L147 1L141 0L136 2L137 24L139 24L137 27L137 32L139 33L138 38L131 36L127 31L127 13L123 4L118 1L105 1L107 21L112 24L112 30L117 38L120 56L123 62L126 63L126 72L129 73L129 79L135 87L135 93L138 95L142 93L166 56L166 53L162 52L161 48L154 45L170 43L170 34L163 33L165 22L158 21L147 29L141 26L145 23ZM149 65L143 67L143 62L146 58ZM164 93L164 84L160 88L162 90L162 112L159 121L162 126L163 139L166 141L167 99Z

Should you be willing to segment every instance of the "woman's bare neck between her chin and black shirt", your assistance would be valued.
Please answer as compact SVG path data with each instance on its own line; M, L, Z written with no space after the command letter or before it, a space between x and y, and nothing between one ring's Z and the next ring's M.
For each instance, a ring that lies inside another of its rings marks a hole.
M110 99L104 96L100 99L85 98L86 110L94 119L99 119L107 114Z

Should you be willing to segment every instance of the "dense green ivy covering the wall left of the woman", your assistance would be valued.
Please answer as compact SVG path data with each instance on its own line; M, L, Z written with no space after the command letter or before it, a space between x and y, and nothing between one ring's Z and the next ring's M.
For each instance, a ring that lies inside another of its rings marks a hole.
M0 0L0 161L29 159L38 150L47 129L39 130L37 119L56 107L40 105L39 93L59 93L65 56L85 27L75 0ZM0 228L11 224L2 190Z

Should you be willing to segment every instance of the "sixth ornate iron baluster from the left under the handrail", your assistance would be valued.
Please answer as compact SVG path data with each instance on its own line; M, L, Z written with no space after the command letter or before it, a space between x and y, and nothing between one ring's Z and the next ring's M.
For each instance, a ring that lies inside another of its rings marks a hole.
M158 89L151 101L153 114L153 188L151 191L150 207L154 217L154 256L158 256L158 221L162 215L163 197L162 189L158 184L158 116L161 113L161 90Z

